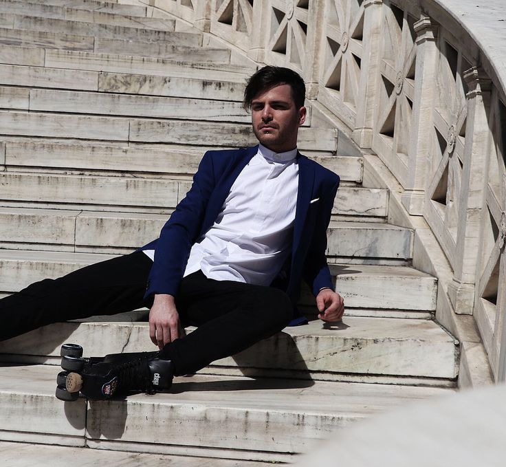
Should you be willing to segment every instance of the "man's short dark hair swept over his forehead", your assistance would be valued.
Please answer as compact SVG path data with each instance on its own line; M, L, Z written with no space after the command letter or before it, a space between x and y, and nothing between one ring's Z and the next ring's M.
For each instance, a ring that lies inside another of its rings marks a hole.
M251 102L256 96L262 91L267 91L278 85L289 85L292 88L292 98L296 107L300 109L304 106L306 86L303 78L292 69L267 65L246 80L243 100L244 109L250 111Z

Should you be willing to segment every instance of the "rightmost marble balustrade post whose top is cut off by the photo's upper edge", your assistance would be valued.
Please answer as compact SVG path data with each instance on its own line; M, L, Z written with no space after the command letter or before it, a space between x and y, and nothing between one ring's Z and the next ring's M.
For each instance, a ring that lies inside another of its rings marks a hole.
M360 75L360 96L352 138L359 147L371 149L375 108L379 102L378 75L380 66L380 44L382 36L383 0L364 1L364 56Z

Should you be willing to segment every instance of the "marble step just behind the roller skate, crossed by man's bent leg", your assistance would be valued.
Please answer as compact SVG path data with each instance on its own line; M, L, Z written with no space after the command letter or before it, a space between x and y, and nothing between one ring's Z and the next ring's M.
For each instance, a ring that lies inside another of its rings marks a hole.
M110 319L109 317L105 319ZM192 332L193 328L187 328ZM83 345L85 356L155 349L146 322L57 323L0 343L0 358L59 364L65 342ZM89 349L89 350L86 350ZM207 374L353 380L391 384L451 385L459 346L437 323L424 319L345 315L341 323L320 320L285 327L232 357L201 370ZM368 380L367 377L371 376ZM396 379L397 378L397 379ZM408 380L404 381L405 379Z

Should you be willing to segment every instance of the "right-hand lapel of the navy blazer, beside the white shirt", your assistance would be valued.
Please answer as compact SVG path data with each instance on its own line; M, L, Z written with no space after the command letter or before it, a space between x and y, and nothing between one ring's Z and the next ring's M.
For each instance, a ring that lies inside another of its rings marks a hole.
M303 238L307 209L311 201L314 185L314 168L308 163L308 159L298 153L298 191L297 207L295 212L294 239L292 243L292 265L294 264L295 253Z

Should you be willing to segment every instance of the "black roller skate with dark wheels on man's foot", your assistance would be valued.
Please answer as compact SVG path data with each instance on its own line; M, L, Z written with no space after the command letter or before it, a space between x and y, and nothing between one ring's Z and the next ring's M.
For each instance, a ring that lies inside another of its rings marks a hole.
M158 358L157 351L83 358L83 347L64 344L60 354L64 370L56 377L60 400L77 400L79 393L91 400L130 391L155 393L170 388L174 376L172 362Z

